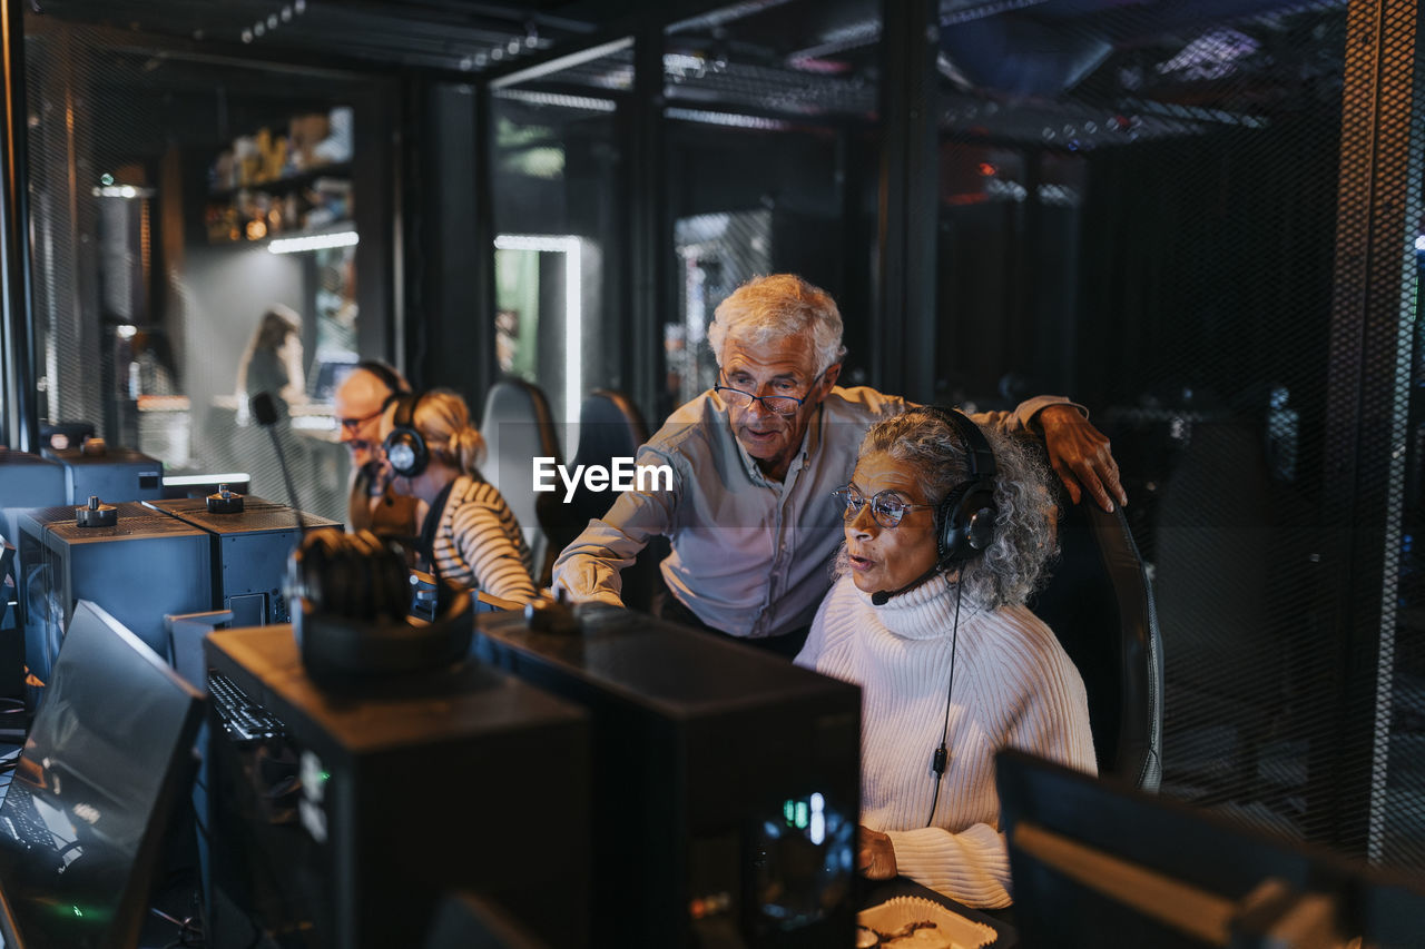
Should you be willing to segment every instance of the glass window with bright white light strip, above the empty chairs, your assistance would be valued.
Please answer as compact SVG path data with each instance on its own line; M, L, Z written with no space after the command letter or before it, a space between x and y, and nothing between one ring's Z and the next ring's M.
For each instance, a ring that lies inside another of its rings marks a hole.
M590 389L626 388L608 321L626 295L631 87L631 43L616 43L492 91L496 359L543 389L557 423L579 420Z

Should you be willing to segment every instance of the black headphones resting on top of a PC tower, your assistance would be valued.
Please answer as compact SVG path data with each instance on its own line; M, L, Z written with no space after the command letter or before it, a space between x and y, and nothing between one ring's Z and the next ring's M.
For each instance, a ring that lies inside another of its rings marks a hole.
M410 579L396 547L366 530L308 531L288 561L292 630L308 675L342 690L457 663L470 650L475 613L469 594L439 586L435 620L412 624Z

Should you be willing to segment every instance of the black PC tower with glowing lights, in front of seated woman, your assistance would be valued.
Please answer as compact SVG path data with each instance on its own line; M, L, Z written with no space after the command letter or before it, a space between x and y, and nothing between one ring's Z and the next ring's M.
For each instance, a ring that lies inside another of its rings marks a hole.
M861 690L640 613L574 617L482 613L473 648L590 712L594 943L852 945Z

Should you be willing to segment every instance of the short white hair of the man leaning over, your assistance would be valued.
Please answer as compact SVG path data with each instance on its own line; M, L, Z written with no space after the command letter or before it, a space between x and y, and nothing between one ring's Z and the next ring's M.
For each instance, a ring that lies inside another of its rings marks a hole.
M762 345L804 333L811 333L817 375L846 355L841 345L841 311L831 294L795 274L772 274L754 276L718 304L708 325L708 345L721 366L730 336Z

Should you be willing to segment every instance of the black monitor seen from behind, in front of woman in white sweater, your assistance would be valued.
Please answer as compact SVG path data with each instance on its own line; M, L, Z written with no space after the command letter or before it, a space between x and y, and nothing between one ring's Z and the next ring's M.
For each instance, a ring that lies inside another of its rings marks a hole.
M1023 752L996 772L1026 949L1425 945L1425 881Z

